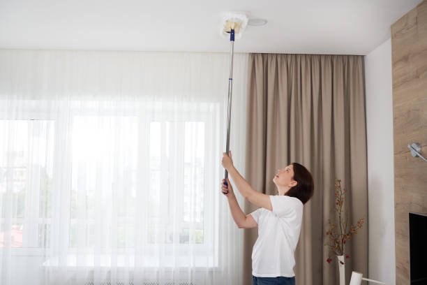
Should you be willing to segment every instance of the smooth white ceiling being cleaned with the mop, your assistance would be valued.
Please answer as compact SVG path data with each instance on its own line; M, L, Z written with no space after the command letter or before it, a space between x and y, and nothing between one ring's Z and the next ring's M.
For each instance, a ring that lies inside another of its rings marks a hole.
M368 54L421 0L0 0L0 48L228 52L222 13L264 18L236 52Z

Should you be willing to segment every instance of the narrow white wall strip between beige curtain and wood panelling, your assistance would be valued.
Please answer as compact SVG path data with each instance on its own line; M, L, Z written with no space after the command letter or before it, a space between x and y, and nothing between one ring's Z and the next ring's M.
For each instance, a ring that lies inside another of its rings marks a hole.
M369 277L396 284L391 40L365 57Z

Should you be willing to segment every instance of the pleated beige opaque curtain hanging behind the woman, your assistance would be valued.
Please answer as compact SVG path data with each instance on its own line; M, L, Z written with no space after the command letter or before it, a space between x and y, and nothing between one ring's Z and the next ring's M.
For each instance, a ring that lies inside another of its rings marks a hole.
M349 191L352 224L367 217L364 59L361 56L250 54L246 179L257 191L276 194L278 168L306 166L315 181L304 206L295 251L298 285L338 284L338 265L327 263L327 221L334 217L334 179ZM246 203L246 212L255 210ZM245 277L250 284L251 252L257 228L245 230ZM347 247L347 284L352 270L368 270L368 227Z

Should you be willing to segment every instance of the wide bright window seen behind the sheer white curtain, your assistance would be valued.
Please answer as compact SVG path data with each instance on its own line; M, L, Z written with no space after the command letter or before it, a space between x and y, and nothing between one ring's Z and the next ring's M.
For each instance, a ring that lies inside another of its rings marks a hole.
M188 256L193 244L216 264L218 103L97 104L0 121L0 247L48 248L66 233L71 255L142 243Z

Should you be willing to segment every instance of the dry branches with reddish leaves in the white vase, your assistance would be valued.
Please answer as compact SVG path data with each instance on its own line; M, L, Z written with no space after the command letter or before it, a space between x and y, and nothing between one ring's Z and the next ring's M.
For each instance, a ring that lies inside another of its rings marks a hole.
M346 189L341 189L341 180L335 179L335 207L334 212L338 216L338 223L334 223L331 219L328 220L329 231L326 231L326 235L329 240L325 243L325 246L329 247L330 253L334 253L336 256L345 256L350 258L348 254L345 254L346 242L351 240L353 235L364 225L364 219L357 221L357 226L350 226L348 221L348 208L344 205ZM345 207L345 210L344 210ZM327 262L331 263L331 256L328 257ZM344 264L343 261L340 261Z

